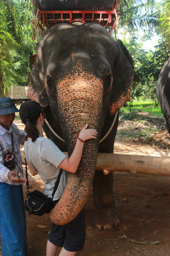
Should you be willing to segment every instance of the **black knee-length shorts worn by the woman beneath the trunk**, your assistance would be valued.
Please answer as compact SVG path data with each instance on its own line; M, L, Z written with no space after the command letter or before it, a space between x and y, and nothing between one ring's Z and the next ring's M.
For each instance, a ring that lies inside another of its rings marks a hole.
M52 223L48 240L58 246L63 247L69 252L82 251L86 238L86 223L84 208L71 222L65 225L56 225Z

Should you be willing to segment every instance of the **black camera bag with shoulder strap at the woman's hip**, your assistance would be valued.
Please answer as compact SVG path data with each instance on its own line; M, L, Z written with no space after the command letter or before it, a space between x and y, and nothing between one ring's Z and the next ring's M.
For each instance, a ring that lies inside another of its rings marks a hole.
M26 159L25 159L26 162ZM43 214L49 213L53 206L52 199L54 198L55 192L59 186L60 177L63 172L63 169L60 170L59 176L55 182L54 190L52 192L52 198L47 197L42 192L38 190L34 190L33 192L29 192L29 183L28 183L28 174L27 174L27 166L25 164L26 170L26 178L27 178L27 199L25 200L25 209L29 211L29 215L34 214L38 216L42 216ZM55 201L56 202L56 201Z

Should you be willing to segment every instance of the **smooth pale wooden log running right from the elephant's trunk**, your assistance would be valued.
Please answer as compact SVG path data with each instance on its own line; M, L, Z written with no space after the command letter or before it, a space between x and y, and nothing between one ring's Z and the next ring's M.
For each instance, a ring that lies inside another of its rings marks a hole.
M170 158L99 153L96 170L102 170L106 175L113 171L124 171L170 176Z

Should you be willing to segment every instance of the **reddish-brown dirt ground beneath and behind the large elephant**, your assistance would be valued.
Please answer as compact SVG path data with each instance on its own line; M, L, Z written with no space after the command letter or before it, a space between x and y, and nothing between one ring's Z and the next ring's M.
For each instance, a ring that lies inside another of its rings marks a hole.
M15 123L23 129L20 121ZM140 138L129 140L122 135L122 131L128 133L145 128L146 124L121 122L116 135L114 153L170 157L169 134L165 127L162 129L161 126L160 130L151 134L145 142ZM37 189L43 192L43 182L38 175L33 178L29 174L29 185L31 191ZM115 172L113 191L116 207L122 216L119 227L110 231L95 229L92 224L91 190L85 204L85 247L77 256L169 256L170 177ZM25 186L24 197L26 198ZM49 216L29 216L26 212L26 222L28 256L45 255L48 232L51 228ZM121 238L123 234L139 243ZM159 242L151 243L157 241Z

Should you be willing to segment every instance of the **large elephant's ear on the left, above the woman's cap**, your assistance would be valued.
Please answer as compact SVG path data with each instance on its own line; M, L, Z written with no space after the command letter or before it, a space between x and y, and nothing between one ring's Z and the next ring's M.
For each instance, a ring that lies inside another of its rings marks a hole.
M33 62L31 63L33 64ZM44 87L43 66L38 55L35 58L33 68L29 75L28 97L33 101L39 102L43 109L49 104L46 89Z

